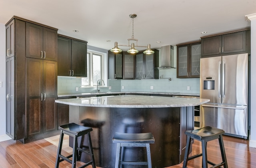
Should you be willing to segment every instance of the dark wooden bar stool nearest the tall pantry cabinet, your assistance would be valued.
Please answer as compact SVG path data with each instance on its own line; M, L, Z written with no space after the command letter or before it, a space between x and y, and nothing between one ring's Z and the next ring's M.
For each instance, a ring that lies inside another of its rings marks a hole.
M96 168L95 160L94 160L94 154L93 154L93 150L92 150L92 141L91 141L91 136L90 136L90 132L92 131L92 128L77 125L75 123L69 123L69 124L66 124L66 125L59 126L59 129L60 129L60 141L59 141L59 146L58 146L55 168L58 168L59 163L64 161L64 160L71 163L73 168L76 168L76 161L77 161L77 157L78 157L77 156L78 151L86 152L87 154L90 154L90 156L92 158L92 160L90 160L89 162L87 162L83 166L80 166L79 168L84 168L84 167L86 167L90 164L92 165L93 168ZM69 156L63 156L61 154L64 134L67 134L67 135L72 136L74 138L74 140L73 140L73 153ZM88 135L88 140L89 140L89 151L78 147L78 142L77 142L77 137L82 136L82 135L86 135L86 134ZM69 159L71 157L72 157L72 160Z

